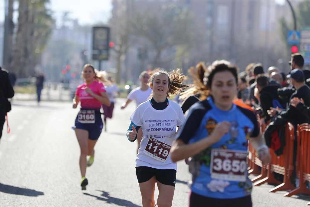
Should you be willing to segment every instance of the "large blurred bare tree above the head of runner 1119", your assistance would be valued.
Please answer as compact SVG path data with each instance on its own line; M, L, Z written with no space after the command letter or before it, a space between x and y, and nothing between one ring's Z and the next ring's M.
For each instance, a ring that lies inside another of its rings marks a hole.
M166 4L159 11L147 8L134 10L133 14L131 26L135 35L145 38L155 51L153 67L175 58L162 59L164 50L181 45L189 49L192 41L197 39L193 16L185 8Z

